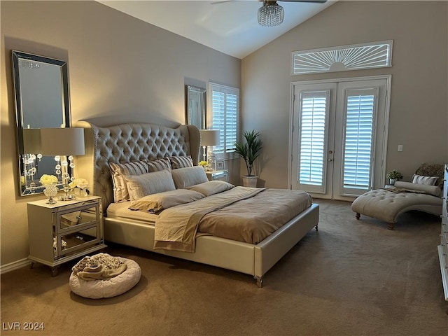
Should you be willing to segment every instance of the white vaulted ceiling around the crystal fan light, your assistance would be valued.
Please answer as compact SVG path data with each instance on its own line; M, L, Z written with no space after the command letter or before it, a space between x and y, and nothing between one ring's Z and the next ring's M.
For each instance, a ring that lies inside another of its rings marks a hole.
M99 0L98 2L242 59L336 1L326 3L279 1L278 3L284 8L285 18L283 23L276 27L258 25L257 11L262 6L262 1L258 0Z

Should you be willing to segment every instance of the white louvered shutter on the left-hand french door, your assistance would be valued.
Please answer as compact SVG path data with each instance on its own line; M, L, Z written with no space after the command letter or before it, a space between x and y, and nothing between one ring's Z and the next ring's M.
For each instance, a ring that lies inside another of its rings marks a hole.
M329 97L329 90L300 93L298 185L314 193L325 193Z

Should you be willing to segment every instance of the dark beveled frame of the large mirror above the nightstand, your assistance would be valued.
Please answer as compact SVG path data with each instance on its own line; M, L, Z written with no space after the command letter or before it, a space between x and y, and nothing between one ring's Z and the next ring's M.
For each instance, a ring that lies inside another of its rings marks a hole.
M27 186L26 179L25 185L22 183L22 176L25 169L25 155L37 154L37 153L24 153L24 137L23 137L23 106L22 102L23 93L21 91L20 83L20 62L26 60L29 62L38 62L45 64L52 64L59 66L61 73L61 95L62 95L62 120L64 127L70 127L70 102L69 102L69 79L68 79L68 66L66 61L60 59L54 59L50 57L44 57L40 55L29 54L18 50L11 50L12 63L13 63L13 83L14 83L14 97L15 97L15 121L16 121L16 142L17 142L17 155L18 155L18 186L19 195L36 195L43 193L43 186ZM61 126L62 126L61 125ZM45 157L46 158L46 157ZM53 172L43 172L43 174L53 174ZM62 186L62 181L60 181Z

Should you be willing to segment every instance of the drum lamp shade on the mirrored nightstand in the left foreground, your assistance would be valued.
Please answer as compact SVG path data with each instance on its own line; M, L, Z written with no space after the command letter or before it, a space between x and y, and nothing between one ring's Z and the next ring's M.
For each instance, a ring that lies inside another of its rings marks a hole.
M84 129L41 128L42 155L84 155Z

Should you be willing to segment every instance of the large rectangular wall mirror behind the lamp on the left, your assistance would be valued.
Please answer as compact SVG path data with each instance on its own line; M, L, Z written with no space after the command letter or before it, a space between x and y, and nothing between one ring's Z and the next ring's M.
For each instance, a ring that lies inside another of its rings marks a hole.
M19 195L43 193L39 179L43 174L56 175L54 156L39 151L39 129L70 127L69 82L67 64L59 59L12 51Z

